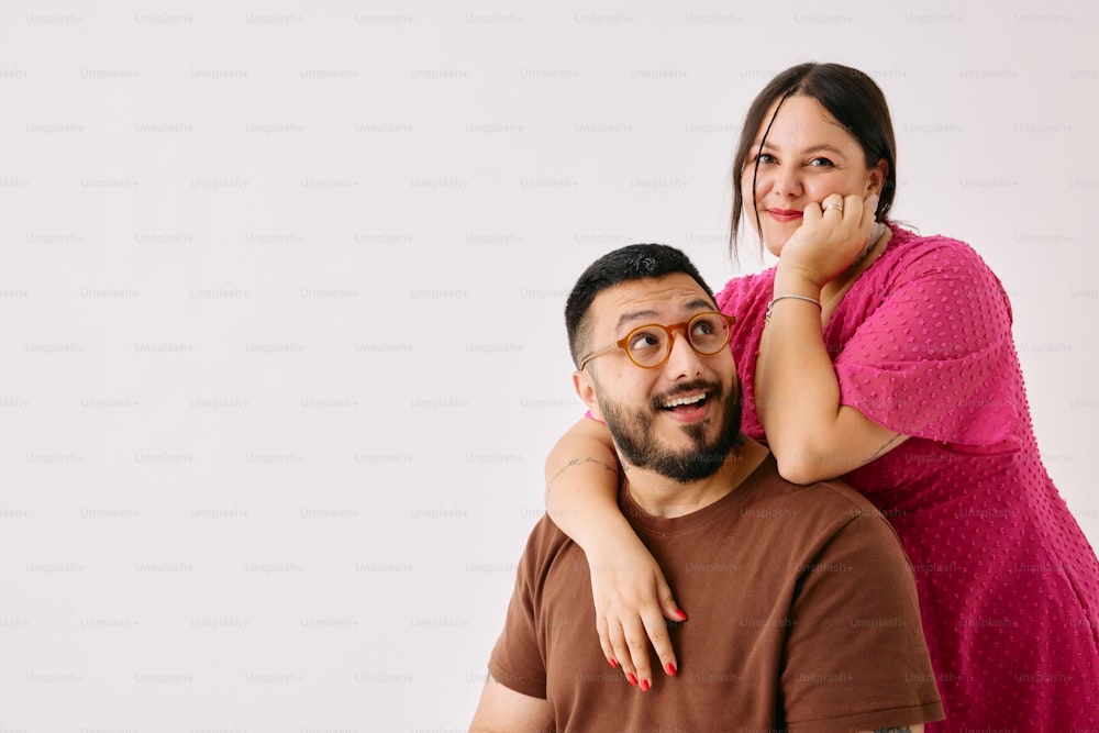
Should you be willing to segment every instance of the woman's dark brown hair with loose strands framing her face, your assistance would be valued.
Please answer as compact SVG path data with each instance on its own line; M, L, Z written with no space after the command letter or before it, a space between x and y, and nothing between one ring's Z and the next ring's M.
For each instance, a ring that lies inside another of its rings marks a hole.
M882 158L889 165L886 180L878 199L875 212L877 221L887 218L897 192L897 141L893 137L892 121L889 119L889 107L885 95L874 79L858 69L840 64L799 64L786 69L770 80L763 91L756 96L748 108L744 126L741 129L741 141L733 157L733 215L729 245L735 256L736 240L741 229L741 215L744 213L744 193L742 179L744 166L755 142L756 132L764 122L767 110L778 101L775 114L782 102L792 96L811 97L855 136L866 155L866 167L873 168ZM764 131L763 142L767 138L770 125L775 121L773 114ZM758 163L756 163L758 168ZM752 196L755 197L755 174L753 173ZM755 204L752 211L759 226L759 212Z

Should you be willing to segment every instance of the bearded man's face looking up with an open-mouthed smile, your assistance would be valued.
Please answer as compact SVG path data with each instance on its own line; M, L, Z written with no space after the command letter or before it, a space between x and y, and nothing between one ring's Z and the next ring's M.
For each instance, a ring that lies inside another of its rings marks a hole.
M588 351L637 326L670 325L713 310L710 297L685 274L623 282L591 303ZM739 440L740 382L728 347L700 356L679 331L663 366L643 369L615 349L592 359L576 379L621 457L639 468L696 481L715 473Z

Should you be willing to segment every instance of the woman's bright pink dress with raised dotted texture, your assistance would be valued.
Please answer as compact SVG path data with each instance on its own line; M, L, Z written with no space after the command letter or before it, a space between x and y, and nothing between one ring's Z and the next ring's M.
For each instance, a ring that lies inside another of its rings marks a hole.
M946 708L942 731L1099 731L1099 562L1046 474L1011 308L965 243L891 226L824 329L842 402L912 435L843 478L912 560ZM744 432L775 270L718 295Z

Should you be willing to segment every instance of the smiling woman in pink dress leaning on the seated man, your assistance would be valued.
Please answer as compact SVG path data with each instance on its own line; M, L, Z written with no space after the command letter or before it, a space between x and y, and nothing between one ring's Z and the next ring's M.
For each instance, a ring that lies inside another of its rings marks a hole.
M742 429L787 479L840 476L892 523L946 708L929 731L1096 728L1099 562L1042 466L1010 304L968 245L889 220L895 148L855 69L799 65L752 103L733 243L743 216L779 262L718 295L737 319ZM617 473L584 419L546 463L546 500L602 569L609 663L652 684L648 643L674 675L664 617L686 613L618 511Z

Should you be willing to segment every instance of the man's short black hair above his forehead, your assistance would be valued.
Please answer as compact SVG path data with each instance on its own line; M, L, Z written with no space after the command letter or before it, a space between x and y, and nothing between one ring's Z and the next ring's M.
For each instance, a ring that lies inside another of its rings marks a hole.
M631 244L610 252L588 266L573 286L565 303L565 327L568 330L568 349L573 363L580 365L581 349L587 348L590 323L588 310L591 301L603 290L632 280L664 277L682 273L713 298L713 291L698 274L695 265L679 249L665 244Z

